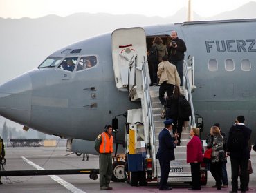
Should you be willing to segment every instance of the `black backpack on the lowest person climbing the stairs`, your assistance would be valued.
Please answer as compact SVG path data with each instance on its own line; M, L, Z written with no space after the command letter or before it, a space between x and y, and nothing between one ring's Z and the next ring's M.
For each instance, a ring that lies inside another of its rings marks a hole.
M192 115L192 112L190 103L188 103L187 99L185 99L185 96L179 97L178 106L179 118L183 119L184 121L188 121Z

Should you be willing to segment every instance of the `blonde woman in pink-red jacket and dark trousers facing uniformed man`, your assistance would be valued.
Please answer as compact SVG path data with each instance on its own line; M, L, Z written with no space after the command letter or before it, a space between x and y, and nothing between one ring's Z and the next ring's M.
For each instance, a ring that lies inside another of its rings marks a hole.
M190 130L191 139L187 144L187 163L191 165L192 176L192 188L188 190L201 190L200 163L203 161L203 153L199 132L199 128L192 128Z

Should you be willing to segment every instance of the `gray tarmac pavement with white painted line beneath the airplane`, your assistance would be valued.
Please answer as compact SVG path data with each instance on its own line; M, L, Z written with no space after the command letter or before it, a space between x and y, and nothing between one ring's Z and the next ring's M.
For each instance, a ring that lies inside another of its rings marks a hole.
M98 169L98 156L89 155L89 161L82 161L82 156L69 154L66 147L18 147L6 148L6 165L4 170L57 170L57 169ZM250 190L256 192L256 152L251 152L253 174L250 174ZM230 160L227 164L229 187L217 190L212 188L214 179L208 172L208 183L202 186L201 192L228 192L231 190ZM4 193L84 193L84 192L163 192L158 190L156 183L146 187L131 187L127 183L110 183L113 190L100 190L99 180L91 180L88 174L50 175L50 176L6 176L1 177L0 192ZM185 183L170 184L172 192L191 192ZM200 191L193 191L200 192Z

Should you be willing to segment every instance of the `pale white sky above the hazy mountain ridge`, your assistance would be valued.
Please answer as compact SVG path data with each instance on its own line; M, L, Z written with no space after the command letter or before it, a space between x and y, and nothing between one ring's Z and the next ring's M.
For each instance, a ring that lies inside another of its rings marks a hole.
M201 17L211 17L221 12L235 10L256 0L191 0L194 12ZM158 5L158 2L161 4ZM109 14L142 14L145 16L172 16L188 0L0 0L0 17L20 19L38 18L48 14L66 17L77 12ZM158 10L156 8L159 7ZM169 7L169 8L168 8ZM166 10L163 10L166 8Z

